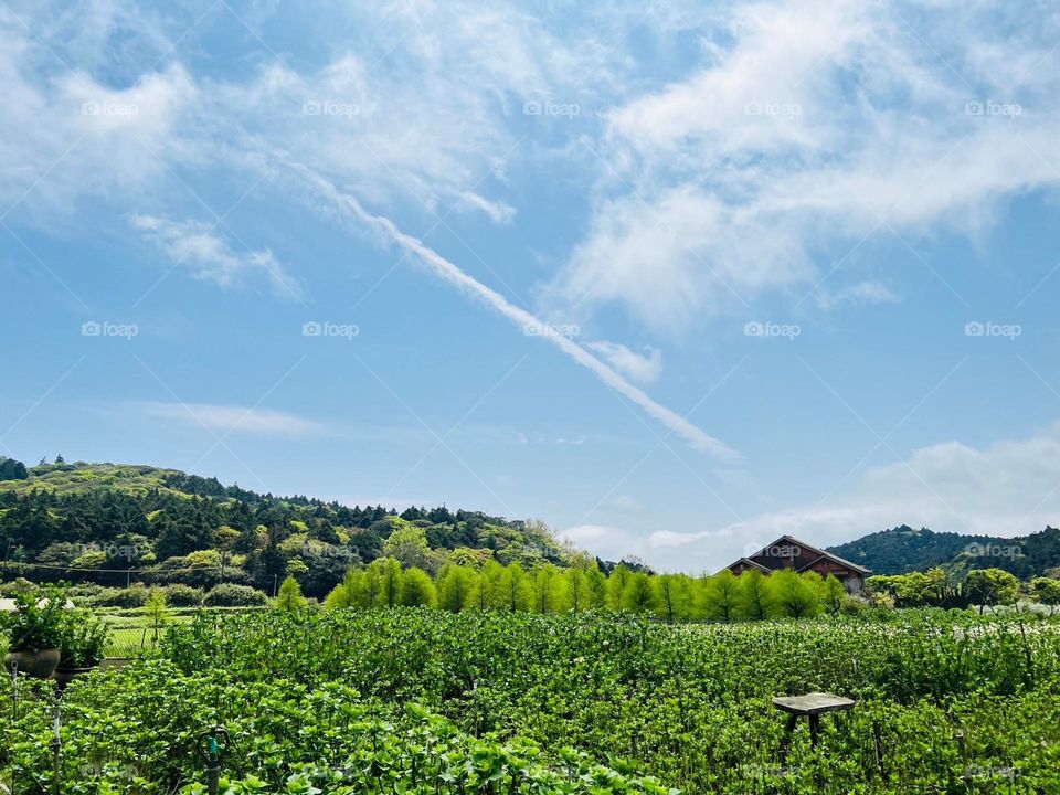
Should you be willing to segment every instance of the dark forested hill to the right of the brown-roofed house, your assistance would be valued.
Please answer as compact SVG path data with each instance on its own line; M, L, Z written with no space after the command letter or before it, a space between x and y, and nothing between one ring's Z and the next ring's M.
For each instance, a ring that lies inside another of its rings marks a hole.
M935 566L961 576L972 569L1004 569L1021 580L1043 576L1060 566L1060 530L1047 527L1030 536L1000 538L914 530L908 524L829 547L875 574L905 574Z

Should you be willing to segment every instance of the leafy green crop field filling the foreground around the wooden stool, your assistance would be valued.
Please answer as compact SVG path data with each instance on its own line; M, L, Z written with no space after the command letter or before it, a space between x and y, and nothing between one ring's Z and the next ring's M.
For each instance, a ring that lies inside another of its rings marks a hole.
M70 687L63 771L67 792L198 792L216 724L233 793L1057 793L1058 629L942 611L202 614ZM816 749L797 729L782 763L771 699L813 690L857 703ZM17 721L4 704L0 780L46 792L47 703Z

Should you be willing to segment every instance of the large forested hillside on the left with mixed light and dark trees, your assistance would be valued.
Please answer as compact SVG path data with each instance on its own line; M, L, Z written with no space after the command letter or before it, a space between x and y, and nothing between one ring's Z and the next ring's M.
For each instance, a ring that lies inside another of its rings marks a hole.
M398 515L151 466L8 462L0 463L12 475L0 480L0 579L226 582L271 592L277 577L295 574L307 594L322 595L351 565L383 555L428 572L448 561L532 566L569 558L542 523L478 511Z

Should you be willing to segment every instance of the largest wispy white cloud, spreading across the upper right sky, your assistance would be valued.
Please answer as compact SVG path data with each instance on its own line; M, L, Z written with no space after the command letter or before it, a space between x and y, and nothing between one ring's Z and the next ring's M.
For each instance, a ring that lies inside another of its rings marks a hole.
M553 305L619 305L672 332L816 282L822 250L877 226L976 234L999 202L1054 189L1060 19L1021 7L1036 23L1014 47L996 6L961 8L919 9L913 32L886 3L734 7L704 66L608 115L593 220Z

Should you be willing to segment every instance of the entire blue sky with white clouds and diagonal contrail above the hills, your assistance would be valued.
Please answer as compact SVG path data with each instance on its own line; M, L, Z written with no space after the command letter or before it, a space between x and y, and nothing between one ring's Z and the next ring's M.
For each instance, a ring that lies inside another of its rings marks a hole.
M716 570L1060 506L1060 13L0 4L0 455Z

